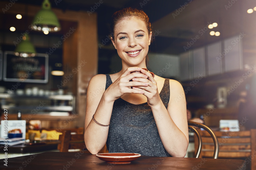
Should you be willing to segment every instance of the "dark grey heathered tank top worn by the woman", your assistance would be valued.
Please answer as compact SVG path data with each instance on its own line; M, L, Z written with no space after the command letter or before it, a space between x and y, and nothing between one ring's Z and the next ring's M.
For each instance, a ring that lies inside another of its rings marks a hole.
M106 88L112 84L106 74ZM170 98L169 79L165 79L160 98L167 108ZM161 119L156 117L155 119ZM145 156L170 156L160 139L155 119L147 102L132 104L121 98L115 100L106 142L110 153L139 153Z

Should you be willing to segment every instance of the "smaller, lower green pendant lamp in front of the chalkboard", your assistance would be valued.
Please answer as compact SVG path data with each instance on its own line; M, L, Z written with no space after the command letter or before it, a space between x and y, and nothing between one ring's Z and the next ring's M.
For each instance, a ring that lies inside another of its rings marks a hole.
M14 54L20 57L35 57L36 49L29 41L28 34L23 36L23 40L21 40L21 42L16 46Z

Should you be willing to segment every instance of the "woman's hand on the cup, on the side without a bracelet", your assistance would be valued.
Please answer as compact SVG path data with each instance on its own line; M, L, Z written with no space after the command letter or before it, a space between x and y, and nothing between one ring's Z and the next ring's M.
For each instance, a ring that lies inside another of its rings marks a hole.
M153 78L152 74L150 72L147 72L146 70L141 69L141 72L148 76L148 78L134 78L133 81L138 82L145 82L148 83L148 86L136 86L133 87L134 89L143 89L145 90L144 96L147 97L147 103L150 107L158 104L159 102L162 102L157 88L157 83L155 79Z

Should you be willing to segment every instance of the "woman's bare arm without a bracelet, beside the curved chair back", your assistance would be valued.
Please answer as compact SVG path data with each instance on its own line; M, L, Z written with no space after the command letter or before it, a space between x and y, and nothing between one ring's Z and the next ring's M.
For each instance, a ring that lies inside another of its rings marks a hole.
M167 109L162 102L151 109L154 117L160 117L155 118L155 121L166 151L172 156L184 157L189 140L186 100L180 83L170 80L170 100Z

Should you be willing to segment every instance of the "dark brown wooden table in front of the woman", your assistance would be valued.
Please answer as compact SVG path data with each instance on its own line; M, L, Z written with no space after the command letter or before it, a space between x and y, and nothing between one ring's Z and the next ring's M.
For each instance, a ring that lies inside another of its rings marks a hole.
M236 170L245 169L241 167L243 160L235 159L200 159L200 158L172 158L157 156L141 156L130 164L108 164L95 155L81 152L44 152L40 154L9 158L8 166L4 166L4 160L0 160L0 169L28 169L28 170L115 170L115 169L222 169ZM245 165L245 164L244 164ZM241 168L238 168L241 167Z

